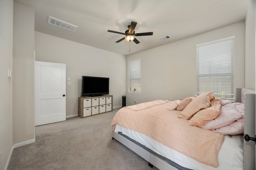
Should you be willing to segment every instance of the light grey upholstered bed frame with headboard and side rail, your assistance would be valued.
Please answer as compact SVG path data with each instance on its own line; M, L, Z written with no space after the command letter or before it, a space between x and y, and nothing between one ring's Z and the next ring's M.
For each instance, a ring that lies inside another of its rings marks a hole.
M244 134L254 137L255 133L255 90L248 88L237 88L236 89L236 102L244 102L245 109L245 124L244 124ZM112 132L112 139L116 139L124 146L128 147L130 150L144 158L148 161L148 165L152 168L155 166L160 170L188 170L175 162L174 164L168 163L162 156L154 152L150 152L149 149L136 144L134 141L122 136L119 133ZM244 170L255 169L255 144L254 141L244 140Z

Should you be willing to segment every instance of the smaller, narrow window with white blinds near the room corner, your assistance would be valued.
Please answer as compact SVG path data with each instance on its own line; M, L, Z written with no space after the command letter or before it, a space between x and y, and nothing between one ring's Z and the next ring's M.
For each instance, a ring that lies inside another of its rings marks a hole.
M130 93L140 93L140 59L129 61L129 89Z

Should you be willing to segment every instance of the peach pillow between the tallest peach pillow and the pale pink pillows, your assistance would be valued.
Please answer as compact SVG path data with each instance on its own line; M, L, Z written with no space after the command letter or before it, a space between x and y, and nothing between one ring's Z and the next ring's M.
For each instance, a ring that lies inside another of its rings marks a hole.
M211 100L211 106L198 111L188 123L192 126L202 126L208 123L209 121L215 119L220 115L221 109L221 100L215 98Z

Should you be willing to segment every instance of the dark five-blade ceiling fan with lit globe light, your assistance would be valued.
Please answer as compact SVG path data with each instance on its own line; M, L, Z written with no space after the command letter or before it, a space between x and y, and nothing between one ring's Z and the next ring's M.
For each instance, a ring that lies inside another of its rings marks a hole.
M126 30L125 33L117 32L117 31L111 31L111 30L108 30L108 32L125 35L124 38L116 41L116 43L119 43L120 41L123 41L124 39L126 39L127 41L134 41L134 43L138 44L138 43L140 43L140 41L138 41L138 39L136 39L134 36L153 35L153 32L135 33L134 29L135 29L136 25L137 25L137 23L132 21L131 25L128 25L128 30Z

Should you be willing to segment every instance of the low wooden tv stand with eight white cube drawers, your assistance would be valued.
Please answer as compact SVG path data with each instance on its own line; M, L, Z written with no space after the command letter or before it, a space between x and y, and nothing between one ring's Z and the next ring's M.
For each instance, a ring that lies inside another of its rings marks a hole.
M81 118L113 110L113 96L78 97L78 116Z

